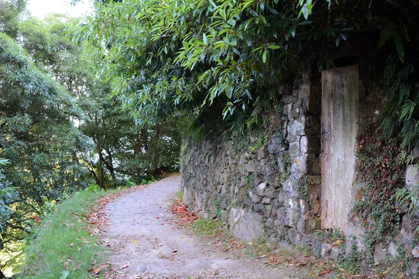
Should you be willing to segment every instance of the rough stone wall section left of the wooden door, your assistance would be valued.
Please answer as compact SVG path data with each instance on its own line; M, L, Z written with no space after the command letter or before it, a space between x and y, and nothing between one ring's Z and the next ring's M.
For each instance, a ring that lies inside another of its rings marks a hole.
M297 244L320 228L320 87L309 73L247 135L185 140L184 202L241 239Z

